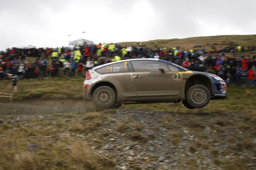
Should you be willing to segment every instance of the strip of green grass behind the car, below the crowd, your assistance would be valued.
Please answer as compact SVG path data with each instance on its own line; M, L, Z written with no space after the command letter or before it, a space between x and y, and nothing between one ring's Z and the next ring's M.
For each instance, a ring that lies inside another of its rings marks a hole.
M36 81L34 81L36 80ZM84 77L71 78L59 77L49 79L25 79L19 80L17 92L12 91L12 84L7 80L0 81L0 85L5 87L1 92L13 94L13 101L27 99L72 99L83 100L82 86ZM142 109L164 112L180 113L212 113L212 112L244 112L253 114L249 117L256 120L256 88L245 86L237 87L235 84L227 85L228 97L220 100L211 100L210 103L201 109L187 109L182 103L155 103L155 104L131 104L122 105L120 109ZM0 97L0 102L7 97Z

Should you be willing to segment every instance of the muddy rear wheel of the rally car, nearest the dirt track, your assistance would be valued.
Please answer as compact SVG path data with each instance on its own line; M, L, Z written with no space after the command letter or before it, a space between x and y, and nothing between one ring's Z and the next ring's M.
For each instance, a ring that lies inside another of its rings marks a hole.
M116 94L109 86L100 86L93 93L93 101L99 108L110 108L115 104Z

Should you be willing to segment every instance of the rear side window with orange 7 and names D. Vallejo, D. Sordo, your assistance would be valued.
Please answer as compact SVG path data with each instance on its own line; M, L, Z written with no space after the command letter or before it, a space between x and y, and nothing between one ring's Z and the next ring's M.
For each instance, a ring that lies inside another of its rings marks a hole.
M118 62L95 70L100 74L129 72L128 62Z

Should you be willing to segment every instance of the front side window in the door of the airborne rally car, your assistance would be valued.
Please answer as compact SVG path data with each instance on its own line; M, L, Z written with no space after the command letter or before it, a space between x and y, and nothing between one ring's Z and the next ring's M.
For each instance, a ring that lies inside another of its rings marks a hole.
M164 62L158 61L131 61L135 72L159 72L159 68L169 71Z

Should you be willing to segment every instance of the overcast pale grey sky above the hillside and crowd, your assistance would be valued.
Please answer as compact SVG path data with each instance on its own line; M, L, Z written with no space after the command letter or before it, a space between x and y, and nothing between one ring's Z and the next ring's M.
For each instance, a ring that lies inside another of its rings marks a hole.
M98 44L252 35L255 7L256 0L3 0L0 50L81 38Z

